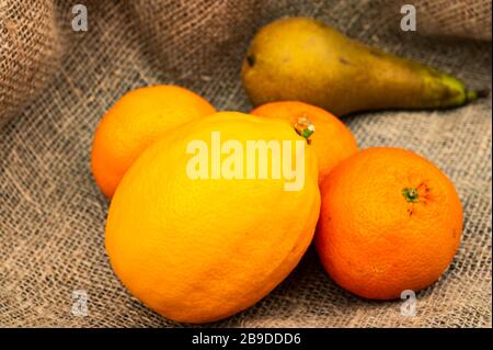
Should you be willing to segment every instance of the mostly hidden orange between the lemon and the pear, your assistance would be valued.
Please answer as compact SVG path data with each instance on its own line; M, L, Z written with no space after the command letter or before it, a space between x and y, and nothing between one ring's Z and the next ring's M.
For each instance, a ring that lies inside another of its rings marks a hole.
M285 120L293 125L299 118L308 118L314 125L310 140L319 162L320 181L341 160L357 151L356 139L344 123L318 106L298 101L270 102L254 109L251 114Z

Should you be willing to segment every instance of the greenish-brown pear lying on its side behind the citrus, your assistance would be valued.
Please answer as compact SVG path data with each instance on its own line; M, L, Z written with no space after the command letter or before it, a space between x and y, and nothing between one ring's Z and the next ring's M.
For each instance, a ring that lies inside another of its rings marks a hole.
M382 109L438 109L478 97L435 68L348 38L305 18L280 19L253 38L242 81L254 105L297 100L336 115Z

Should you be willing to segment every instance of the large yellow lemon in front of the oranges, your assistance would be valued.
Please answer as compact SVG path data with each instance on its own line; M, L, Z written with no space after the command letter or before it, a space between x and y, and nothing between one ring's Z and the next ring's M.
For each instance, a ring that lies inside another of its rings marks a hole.
M275 177L274 153L252 153L252 140L291 145L283 154L305 165L291 168L303 185L286 190L295 178ZM125 173L107 217L106 251L123 284L186 323L225 318L265 296L298 263L319 216L317 158L295 144L307 142L284 121L221 112L149 146Z

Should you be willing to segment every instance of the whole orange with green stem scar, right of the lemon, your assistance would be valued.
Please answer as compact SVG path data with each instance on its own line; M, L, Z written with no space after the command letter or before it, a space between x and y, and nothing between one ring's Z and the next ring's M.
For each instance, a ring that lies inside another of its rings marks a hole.
M332 279L375 300L438 280L462 232L454 184L405 149L369 148L343 160L321 184L316 247Z

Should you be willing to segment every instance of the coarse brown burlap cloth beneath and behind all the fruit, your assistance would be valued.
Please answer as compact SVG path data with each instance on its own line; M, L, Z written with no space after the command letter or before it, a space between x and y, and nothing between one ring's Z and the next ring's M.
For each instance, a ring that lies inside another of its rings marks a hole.
M249 111L240 61L272 20L313 16L491 89L490 1L417 1L415 33L399 29L405 1L82 2L89 31L76 33L76 2L0 0L0 120L10 118L0 129L0 326L182 326L130 296L108 266L108 203L90 172L92 135L121 95L152 83ZM491 97L455 110L344 121L363 148L406 147L451 178L465 229L450 269L417 294L417 315L404 317L400 301L368 302L339 289L310 249L272 294L213 326L491 327ZM88 294L87 317L72 314L77 290Z

